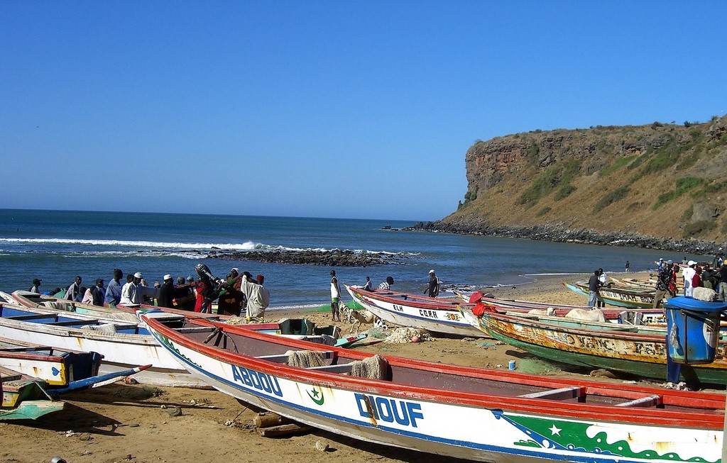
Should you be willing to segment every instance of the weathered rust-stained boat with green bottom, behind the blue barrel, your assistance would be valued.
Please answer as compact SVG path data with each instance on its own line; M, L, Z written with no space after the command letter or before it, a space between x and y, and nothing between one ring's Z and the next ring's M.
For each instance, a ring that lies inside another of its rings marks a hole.
M493 312L475 316L464 306L462 314L497 340L542 358L659 380L667 377L665 325L635 326ZM685 364L681 375L688 385L723 387L727 383L727 342L718 343L714 362Z

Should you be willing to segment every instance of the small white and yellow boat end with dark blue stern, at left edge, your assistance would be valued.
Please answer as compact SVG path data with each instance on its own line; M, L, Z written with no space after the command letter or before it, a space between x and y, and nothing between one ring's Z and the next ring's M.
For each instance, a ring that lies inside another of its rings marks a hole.
M94 377L103 356L97 352L69 351L0 338L0 366L40 378L50 387Z

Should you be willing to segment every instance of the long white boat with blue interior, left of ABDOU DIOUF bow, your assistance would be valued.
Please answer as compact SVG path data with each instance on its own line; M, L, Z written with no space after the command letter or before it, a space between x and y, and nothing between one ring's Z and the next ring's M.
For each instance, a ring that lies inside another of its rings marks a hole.
M144 384L206 387L201 378L181 368L169 353L160 348L138 320L126 322L65 311L2 305L0 337L21 343L100 353L103 355L102 373L153 364L152 368L134 376Z

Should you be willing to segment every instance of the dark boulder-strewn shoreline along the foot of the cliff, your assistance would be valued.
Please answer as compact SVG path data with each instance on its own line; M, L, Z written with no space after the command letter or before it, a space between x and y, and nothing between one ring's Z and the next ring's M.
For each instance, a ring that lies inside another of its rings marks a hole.
M724 253L726 243L701 241L699 239L673 239L628 234L623 231L595 231L592 229L571 230L562 226L490 226L485 223L471 224L464 220L451 222L417 222L406 227L407 231L437 231L441 233L471 234L489 237L539 239L553 242L576 242L587 245L643 247L698 255Z

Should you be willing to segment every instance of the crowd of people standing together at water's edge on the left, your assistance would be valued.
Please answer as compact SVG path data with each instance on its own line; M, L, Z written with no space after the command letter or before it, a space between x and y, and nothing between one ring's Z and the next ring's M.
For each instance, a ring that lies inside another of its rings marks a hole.
M196 267L198 279L193 276L178 276L176 284L171 274L166 274L162 282L154 282L149 286L140 271L126 275L126 282L122 283L124 272L113 269L113 277L105 286L105 280L98 278L92 287L84 287L83 278L77 275L65 290L60 287L55 290L42 292L42 279L34 278L29 291L43 293L59 299L72 300L78 303L93 306L139 306L141 304L156 305L166 308L180 308L177 301L182 298L193 298L194 311L211 313L212 303L217 300L217 314L241 316L245 310L247 319L260 319L270 304L270 291L263 283L262 274L253 277L247 271L239 273L237 268L230 270L225 280L216 279L209 274L206 266Z

